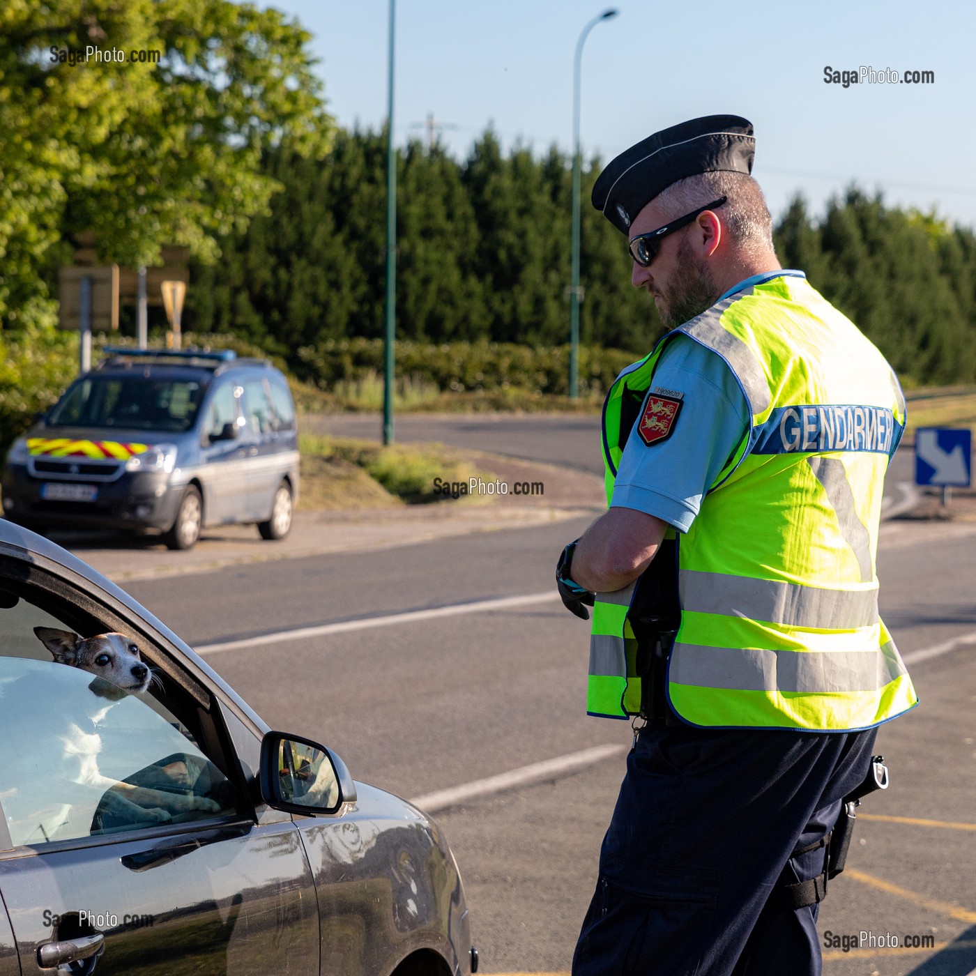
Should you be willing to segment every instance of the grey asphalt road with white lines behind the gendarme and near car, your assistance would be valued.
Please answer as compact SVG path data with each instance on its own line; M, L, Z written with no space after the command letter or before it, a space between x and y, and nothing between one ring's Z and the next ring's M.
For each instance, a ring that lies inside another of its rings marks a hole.
M585 524L230 567L128 589L191 643L211 643L543 592L554 554ZM903 653L974 630L974 530L883 528L882 610ZM417 796L594 745L626 746L625 723L584 714L586 647L587 626L551 602L282 639L209 660L272 725L326 742L359 779ZM831 976L962 976L976 967L976 849L972 830L958 826L976 820L976 653L962 648L912 671L922 707L880 730L893 785L864 807L911 822L859 821L852 870L832 886L820 930L932 936L956 948L837 949L825 963ZM437 815L465 876L484 971L569 968L623 764L621 754L554 784Z

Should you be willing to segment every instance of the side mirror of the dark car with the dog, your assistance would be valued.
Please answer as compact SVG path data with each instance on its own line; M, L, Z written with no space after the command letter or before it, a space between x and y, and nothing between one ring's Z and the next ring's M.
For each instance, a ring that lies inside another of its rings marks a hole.
M356 798L346 763L310 739L268 732L261 743L261 796L275 810L314 817Z

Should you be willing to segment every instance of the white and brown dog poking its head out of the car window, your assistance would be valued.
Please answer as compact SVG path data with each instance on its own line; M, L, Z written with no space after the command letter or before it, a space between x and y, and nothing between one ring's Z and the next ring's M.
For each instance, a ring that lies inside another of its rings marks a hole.
M35 627L34 633L56 663L92 674L94 680L89 685L90 690L107 703L84 716L62 716L62 720L66 720L61 735L65 778L103 792L96 813L98 821L114 826L148 826L165 823L175 815L194 810L221 811L221 804L215 800L189 793L183 760L149 767L151 772L142 771L147 774L144 777L141 772L141 778L151 776L156 785L164 789L137 786L102 775L99 769L99 753L102 752L99 724L117 702L146 691L153 680L158 682L142 662L139 645L132 637L116 632L81 637L71 630L50 627ZM93 824L93 827L97 826Z

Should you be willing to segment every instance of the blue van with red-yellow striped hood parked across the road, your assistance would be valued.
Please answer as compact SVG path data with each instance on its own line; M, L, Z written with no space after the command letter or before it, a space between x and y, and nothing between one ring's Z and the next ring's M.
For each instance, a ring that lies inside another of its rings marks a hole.
M230 349L105 353L14 442L4 514L40 531L156 531L170 549L235 522L284 538L299 450L280 370Z

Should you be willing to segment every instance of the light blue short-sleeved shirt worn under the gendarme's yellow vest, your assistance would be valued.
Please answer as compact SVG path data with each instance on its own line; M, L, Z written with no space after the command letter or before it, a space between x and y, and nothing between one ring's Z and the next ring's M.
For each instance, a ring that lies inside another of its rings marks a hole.
M780 275L753 274L718 301ZM631 432L617 469L612 508L636 508L687 532L718 472L739 446L752 416L746 394L725 360L687 336L662 352L651 388L682 394L669 436L649 447Z

